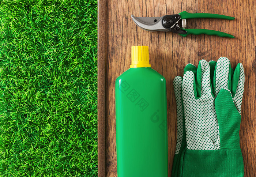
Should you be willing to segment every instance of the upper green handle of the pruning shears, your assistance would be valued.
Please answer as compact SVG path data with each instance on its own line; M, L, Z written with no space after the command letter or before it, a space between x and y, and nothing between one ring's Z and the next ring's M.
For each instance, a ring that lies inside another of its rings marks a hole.
M234 17L226 16L226 15L219 15L219 14L191 14L186 11L180 12L180 19L192 19L192 18L219 18L219 19L226 19L226 20L234 20Z

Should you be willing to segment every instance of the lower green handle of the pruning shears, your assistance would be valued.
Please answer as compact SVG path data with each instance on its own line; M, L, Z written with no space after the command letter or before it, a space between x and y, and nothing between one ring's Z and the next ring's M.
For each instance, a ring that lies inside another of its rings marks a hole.
M214 31L214 30L206 30L206 29L182 29L182 30L187 31L187 34L180 34L183 37L186 37L189 34L194 34L194 35L207 34L207 35L217 35L219 37L235 38L231 34L223 33L220 31Z

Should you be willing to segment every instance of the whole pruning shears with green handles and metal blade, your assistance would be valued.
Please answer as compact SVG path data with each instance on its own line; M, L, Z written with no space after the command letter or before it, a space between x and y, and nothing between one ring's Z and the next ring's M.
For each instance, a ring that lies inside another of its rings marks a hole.
M217 35L219 37L228 37L235 38L231 34L223 33L220 31L207 30L207 29L186 29L187 22L186 19L193 18L216 18L216 19L226 19L234 20L234 17L219 15L219 14L191 14L186 11L180 12L176 15L164 15L162 17L135 17L132 16L132 20L136 23L137 26L147 31L172 31L173 33L178 33L183 37L186 37L189 34L199 35ZM181 28L179 23L181 22Z

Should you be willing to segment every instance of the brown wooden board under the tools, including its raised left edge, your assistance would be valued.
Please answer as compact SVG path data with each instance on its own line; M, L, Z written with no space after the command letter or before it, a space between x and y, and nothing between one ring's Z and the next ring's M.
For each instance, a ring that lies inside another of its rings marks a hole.
M208 35L181 37L172 32L149 32L133 23L131 14L151 17L167 14L212 13L236 19L187 20L187 28L226 32L236 38ZM256 176L256 1L255 0L99 0L98 1L98 175L117 176L115 79L129 68L131 46L148 45L151 67L166 78L168 112L168 162L171 176L176 146L177 115L173 79L186 64L230 59L242 63L245 89L242 101L240 146L245 176ZM202 159L203 160L203 159ZM132 170L132 169L131 169Z

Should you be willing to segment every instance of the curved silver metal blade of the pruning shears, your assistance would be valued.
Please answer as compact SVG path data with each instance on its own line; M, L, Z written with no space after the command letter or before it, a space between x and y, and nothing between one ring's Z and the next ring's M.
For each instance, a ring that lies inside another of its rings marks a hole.
M162 26L162 17L136 17L131 15L133 22L147 31L169 31Z

